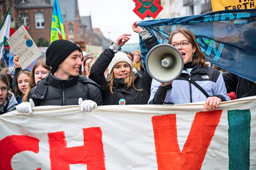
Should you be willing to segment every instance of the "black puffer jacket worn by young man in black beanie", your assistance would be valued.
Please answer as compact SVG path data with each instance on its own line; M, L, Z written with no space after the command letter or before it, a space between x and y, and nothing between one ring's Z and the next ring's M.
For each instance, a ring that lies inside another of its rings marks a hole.
M52 74L37 83L28 94L28 101L32 98L35 106L65 106L78 105L78 99L92 100L98 106L103 104L99 86L84 76L71 76L68 80L61 80Z

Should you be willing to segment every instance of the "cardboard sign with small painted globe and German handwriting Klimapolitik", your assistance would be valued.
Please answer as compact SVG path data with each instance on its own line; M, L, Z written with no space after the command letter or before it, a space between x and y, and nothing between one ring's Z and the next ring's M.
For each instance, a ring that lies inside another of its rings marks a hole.
M14 54L19 56L19 64L22 69L42 55L24 25L17 29L7 41Z

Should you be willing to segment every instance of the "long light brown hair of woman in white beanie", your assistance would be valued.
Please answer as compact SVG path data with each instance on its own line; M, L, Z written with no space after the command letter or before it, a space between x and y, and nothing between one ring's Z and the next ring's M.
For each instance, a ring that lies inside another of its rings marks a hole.
M131 68L130 65L129 65L129 67L130 67L130 73L129 73L128 76L126 76L126 77L124 78L124 79L125 79L125 87L124 87L124 90L127 90L127 89L130 88L130 86L132 86L133 89L135 89L135 90L137 90L137 91L142 91L143 89L137 89L137 88L134 86L134 80L136 79L136 77L135 77L135 74L133 73L132 68ZM110 74L110 76L109 76L109 78L108 78L108 82L109 82L108 87L109 87L109 90L110 90L111 95L114 95L113 88L116 88L116 87L114 87L114 78L115 78L115 76L114 76L114 69L112 69L111 74Z

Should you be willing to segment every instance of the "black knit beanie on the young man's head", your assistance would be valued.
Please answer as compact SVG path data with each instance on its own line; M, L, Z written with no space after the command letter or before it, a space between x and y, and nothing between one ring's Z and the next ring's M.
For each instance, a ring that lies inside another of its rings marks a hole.
M52 67L53 73L71 52L81 49L79 45L68 40L56 40L46 50L46 64Z

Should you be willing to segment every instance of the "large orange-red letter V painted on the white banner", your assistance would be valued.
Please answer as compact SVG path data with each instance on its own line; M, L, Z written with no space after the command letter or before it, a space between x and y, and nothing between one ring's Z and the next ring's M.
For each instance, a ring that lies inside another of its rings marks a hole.
M177 141L176 115L152 117L158 170L200 169L222 110L198 112L182 152Z

